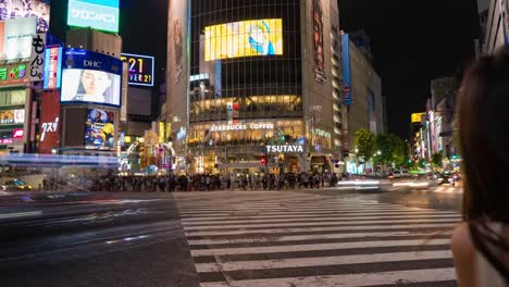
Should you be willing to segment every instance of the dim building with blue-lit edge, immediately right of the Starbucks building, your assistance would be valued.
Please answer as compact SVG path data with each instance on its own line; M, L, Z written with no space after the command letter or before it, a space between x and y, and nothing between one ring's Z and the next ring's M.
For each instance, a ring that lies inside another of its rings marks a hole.
M356 34L356 42L365 43L365 34ZM363 37L359 38L359 35ZM357 47L350 39L349 34L343 34L342 61L344 75L344 95L347 105L347 134L349 158L347 170L350 173L359 172L359 162L355 153L355 133L361 128L367 128L374 134L385 132L384 124L384 100L382 97L382 79L376 73L371 62L372 57L367 57L367 45ZM370 170L370 166L362 166Z

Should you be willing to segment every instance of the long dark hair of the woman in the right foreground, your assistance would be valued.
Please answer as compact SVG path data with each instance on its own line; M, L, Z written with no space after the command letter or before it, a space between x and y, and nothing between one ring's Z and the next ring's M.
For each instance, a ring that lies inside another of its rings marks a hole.
M463 213L470 221L509 223L509 46L479 59L458 101L465 174Z

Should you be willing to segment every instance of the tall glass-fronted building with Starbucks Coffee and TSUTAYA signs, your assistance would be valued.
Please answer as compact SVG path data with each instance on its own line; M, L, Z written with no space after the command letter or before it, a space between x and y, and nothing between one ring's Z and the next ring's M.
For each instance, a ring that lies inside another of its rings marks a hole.
M175 170L336 169L339 36L336 1L170 1L164 114Z

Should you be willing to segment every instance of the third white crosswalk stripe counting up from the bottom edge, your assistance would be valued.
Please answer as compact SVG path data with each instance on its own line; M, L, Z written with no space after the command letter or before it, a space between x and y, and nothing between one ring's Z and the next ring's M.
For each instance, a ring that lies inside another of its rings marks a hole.
M315 250L338 250L350 248L369 248L369 247L395 247L395 246L436 246L448 245L450 239L431 239L426 240L392 240L392 241L356 241L356 242L339 242L339 244L321 244L321 245L295 245L295 246L266 246L266 247L246 247L246 248L222 248L222 249L203 249L193 250L193 257L207 255L235 255L250 253L282 253L296 251L315 251Z

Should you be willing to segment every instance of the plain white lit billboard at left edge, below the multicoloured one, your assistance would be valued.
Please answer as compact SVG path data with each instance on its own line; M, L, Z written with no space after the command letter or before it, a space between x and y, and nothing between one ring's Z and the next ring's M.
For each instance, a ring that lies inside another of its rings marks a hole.
M3 53L0 60L28 59L32 37L36 34L36 17L5 21L3 25Z

